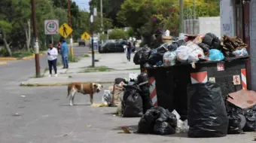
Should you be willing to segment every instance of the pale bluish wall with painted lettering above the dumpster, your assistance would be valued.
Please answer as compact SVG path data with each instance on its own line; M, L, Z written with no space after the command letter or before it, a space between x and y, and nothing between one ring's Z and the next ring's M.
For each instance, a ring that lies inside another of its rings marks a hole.
M221 35L236 35L233 0L221 0Z

